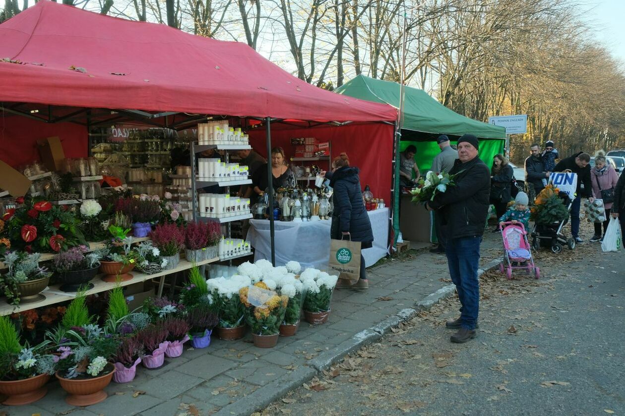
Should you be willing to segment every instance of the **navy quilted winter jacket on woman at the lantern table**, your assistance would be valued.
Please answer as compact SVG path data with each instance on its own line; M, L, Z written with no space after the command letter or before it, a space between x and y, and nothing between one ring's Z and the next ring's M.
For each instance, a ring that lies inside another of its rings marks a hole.
M349 231L352 241L371 243L373 231L362 201L358 172L355 167L342 167L332 174L326 173L334 189L331 238L341 239L341 233Z

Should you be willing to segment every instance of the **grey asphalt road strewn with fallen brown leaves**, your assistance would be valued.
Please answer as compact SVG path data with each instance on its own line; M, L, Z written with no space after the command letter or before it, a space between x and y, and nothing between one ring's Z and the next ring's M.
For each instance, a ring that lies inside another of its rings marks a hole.
M625 253L537 254L543 277L481 282L476 339L451 344L456 297L262 415L625 415Z

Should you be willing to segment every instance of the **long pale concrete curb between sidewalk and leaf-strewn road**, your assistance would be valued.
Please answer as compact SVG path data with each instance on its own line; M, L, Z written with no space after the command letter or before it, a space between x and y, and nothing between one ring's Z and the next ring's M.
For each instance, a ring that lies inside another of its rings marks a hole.
M485 271L496 268L501 261L503 261L503 258L497 258L489 261L489 263L484 266L484 269L479 269L477 271L477 277L479 278L479 276L481 276ZM430 309L443 299L451 296L454 291L456 291L456 286L453 284L438 289L436 292L429 294L421 301L416 302L414 307L402 309L395 315L387 317L384 321L379 322L379 324L358 332L356 335L347 341L341 342L341 344L333 349L322 352L322 354L319 354L319 356L309 361L309 367L299 367L284 377L281 377L281 379L261 387L243 399L222 407L222 409L220 409L215 415L247 416L257 412L258 410L264 409L269 404L283 397L289 391L296 389L308 380L312 379L315 375L328 369L332 364L341 361L347 354L351 354L352 352L357 351L361 349L361 347L367 346L372 342L379 341L382 336L391 331L391 328L398 326L401 322L409 321L409 319L412 319L418 311Z

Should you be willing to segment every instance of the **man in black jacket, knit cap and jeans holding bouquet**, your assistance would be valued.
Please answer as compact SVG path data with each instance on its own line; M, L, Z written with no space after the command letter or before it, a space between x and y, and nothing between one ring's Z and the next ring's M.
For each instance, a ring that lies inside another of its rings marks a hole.
M491 174L477 157L477 146L474 135L465 134L458 139L458 159L449 172L453 183L426 201L428 210L439 210L447 227L445 254L462 305L460 317L446 324L447 328L459 330L451 336L451 342L467 342L476 337L479 246L491 189Z

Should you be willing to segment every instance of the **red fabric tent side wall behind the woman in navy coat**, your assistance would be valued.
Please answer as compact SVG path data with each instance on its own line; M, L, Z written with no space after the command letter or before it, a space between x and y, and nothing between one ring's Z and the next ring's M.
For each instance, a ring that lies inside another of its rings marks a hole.
M282 147L287 160L294 156L292 137L315 137L321 142L332 144L332 158L341 152L347 153L349 164L360 168L362 188L369 185L376 198L384 198L386 205L391 205L392 175L392 140L394 128L386 123L362 123L340 127L324 125L313 128L271 129L272 147ZM277 125L276 125L277 126ZM267 157L264 130L250 130L249 141L252 148ZM289 162L294 165L318 165L322 170L328 168L326 161ZM303 184L305 182L301 182Z

